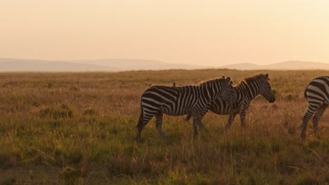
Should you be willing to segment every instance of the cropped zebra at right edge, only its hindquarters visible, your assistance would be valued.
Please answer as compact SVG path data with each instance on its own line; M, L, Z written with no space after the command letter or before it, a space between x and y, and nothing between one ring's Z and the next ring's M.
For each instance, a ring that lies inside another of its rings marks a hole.
M329 104L329 76L319 76L314 78L304 91L304 97L309 102L307 112L304 115L302 123L302 132L300 136L305 139L307 122L313 116L314 132L318 132L318 121Z

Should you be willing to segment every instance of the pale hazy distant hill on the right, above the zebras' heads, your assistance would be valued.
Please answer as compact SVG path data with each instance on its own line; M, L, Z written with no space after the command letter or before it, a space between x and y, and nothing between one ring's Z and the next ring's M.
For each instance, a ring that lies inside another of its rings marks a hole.
M271 69L271 70L307 70L307 69L323 69L329 70L329 64L321 62L302 62L297 60L278 62L274 64L257 65L251 63L240 63L221 66L226 69L238 70L257 70L257 69Z

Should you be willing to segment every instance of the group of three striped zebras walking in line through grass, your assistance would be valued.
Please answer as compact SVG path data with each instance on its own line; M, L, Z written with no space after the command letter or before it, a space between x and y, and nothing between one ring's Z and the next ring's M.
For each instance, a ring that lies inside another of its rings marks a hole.
M162 132L162 116L188 115L186 120L193 118L194 137L198 135L198 129L207 129L202 123L202 118L207 111L215 114L228 114L226 128L230 128L231 123L237 114L240 115L241 125L245 126L245 114L250 106L250 102L262 95L269 102L275 102L271 85L269 84L269 74L257 74L233 87L230 77L215 78L202 81L198 85L185 85L177 87L155 85L148 88L141 96L141 114L137 124L136 140L141 137L143 128L151 118L155 116L156 129L159 135L166 139ZM329 104L329 76L315 78L307 86L304 96L309 102L307 113L304 115L302 123L302 139L305 139L307 122L314 115L314 132L317 132L318 121L325 108Z

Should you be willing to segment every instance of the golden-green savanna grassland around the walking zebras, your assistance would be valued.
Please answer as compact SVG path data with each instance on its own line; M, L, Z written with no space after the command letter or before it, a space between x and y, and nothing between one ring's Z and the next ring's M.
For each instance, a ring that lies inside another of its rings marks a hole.
M252 101L246 128L209 113L193 139L185 116L154 119L136 143L150 85L195 84L269 73L276 102ZM328 112L300 139L304 88L329 71L225 69L120 73L1 73L0 184L329 184Z

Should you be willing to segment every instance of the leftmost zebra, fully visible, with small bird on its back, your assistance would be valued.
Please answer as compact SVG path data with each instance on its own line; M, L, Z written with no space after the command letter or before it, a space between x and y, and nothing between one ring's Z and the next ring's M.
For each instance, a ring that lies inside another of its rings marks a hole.
M159 135L166 140L162 132L162 116L182 116L191 114L193 116L194 137L198 135L198 128L202 130L202 111L207 104L217 97L233 104L233 86L231 78L214 78L202 81L198 85L185 85L170 87L155 85L148 88L141 95L141 114L138 120L136 141L141 137L141 132L146 124L155 116L156 129Z

